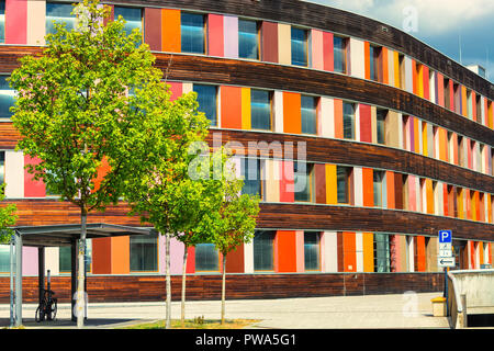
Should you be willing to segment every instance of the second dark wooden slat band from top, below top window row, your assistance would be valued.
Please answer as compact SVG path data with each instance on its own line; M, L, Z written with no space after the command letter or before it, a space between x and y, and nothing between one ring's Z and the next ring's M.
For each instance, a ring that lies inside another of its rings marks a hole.
M10 53L10 54L9 54ZM9 72L19 66L16 59L40 53L36 47L0 47L0 71ZM11 55L5 61L3 56ZM170 80L205 81L266 89L303 91L344 100L379 105L417 116L452 132L493 145L494 131L460 116L425 99L401 89L349 76L266 63L232 60L191 55L155 54L156 65L169 70ZM171 61L171 66L169 66ZM303 87L301 82L303 81ZM303 89L302 89L303 88Z

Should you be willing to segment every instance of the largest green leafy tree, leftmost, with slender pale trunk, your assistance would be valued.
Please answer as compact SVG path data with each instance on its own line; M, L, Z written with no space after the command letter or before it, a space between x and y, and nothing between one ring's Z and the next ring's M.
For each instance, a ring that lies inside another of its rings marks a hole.
M22 135L18 149L38 158L27 170L50 193L80 208L77 325L83 326L87 215L116 204L124 181L141 167L153 121L169 100L142 34L128 36L99 0L76 7L77 26L55 23L41 55L21 59L11 76L19 92L12 122ZM128 93L128 92L132 92ZM101 182L97 181L101 179Z

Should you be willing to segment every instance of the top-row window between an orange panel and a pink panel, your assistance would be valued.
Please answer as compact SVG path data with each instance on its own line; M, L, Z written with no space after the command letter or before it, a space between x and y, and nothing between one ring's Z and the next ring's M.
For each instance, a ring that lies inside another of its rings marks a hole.
M181 13L182 53L205 54L204 27L204 15L187 12Z

